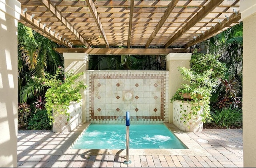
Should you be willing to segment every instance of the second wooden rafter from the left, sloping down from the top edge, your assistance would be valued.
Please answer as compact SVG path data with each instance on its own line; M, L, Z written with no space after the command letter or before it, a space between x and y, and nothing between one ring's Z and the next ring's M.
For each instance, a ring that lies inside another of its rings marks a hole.
M41 2L62 24L68 28L86 47L90 48L90 45L84 40L82 35L74 28L72 24L64 16L62 16L61 12L55 7L52 2L49 0L38 0Z

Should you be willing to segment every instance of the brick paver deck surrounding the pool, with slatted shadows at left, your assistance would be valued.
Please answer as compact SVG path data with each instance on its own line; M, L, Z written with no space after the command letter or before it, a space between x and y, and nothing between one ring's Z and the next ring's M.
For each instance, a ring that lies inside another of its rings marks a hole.
M183 132L166 126L188 149L71 149L89 123L72 132L18 131L18 167L243 167L242 129Z

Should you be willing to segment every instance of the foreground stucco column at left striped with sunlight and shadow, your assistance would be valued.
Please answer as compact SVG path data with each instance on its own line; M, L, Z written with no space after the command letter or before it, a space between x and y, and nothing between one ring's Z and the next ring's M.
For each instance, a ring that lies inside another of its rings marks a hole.
M17 167L20 2L0 0L0 167Z

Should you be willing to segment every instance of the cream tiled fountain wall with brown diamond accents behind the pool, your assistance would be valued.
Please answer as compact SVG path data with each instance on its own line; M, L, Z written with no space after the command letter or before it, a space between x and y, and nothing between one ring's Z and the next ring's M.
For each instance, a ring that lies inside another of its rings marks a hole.
M86 71L86 121L168 122L169 71Z

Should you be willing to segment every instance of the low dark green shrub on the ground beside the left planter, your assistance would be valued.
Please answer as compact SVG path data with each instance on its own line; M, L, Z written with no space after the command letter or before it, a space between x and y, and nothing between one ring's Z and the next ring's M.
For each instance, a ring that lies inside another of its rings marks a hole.
M51 130L52 125L48 113L44 109L36 109L28 122L28 130Z

